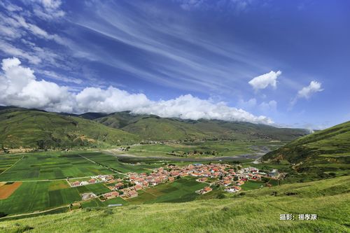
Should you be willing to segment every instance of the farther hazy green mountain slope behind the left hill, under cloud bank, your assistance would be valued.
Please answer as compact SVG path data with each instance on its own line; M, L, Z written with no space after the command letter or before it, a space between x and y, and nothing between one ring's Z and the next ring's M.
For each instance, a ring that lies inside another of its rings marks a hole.
M249 122L223 120L181 120L156 115L134 115L128 111L112 113L95 121L109 127L138 134L147 140L181 139L271 139L290 141L307 132L304 129L276 128Z

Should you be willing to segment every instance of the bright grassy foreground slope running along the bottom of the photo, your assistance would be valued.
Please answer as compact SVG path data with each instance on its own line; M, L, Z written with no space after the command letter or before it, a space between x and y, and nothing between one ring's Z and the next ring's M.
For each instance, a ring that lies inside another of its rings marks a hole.
M349 232L349 187L350 177L343 176L247 191L230 199L8 220L1 222L0 231L32 227L31 232ZM281 213L293 213L296 220L279 220ZM299 213L316 213L318 220L297 220Z

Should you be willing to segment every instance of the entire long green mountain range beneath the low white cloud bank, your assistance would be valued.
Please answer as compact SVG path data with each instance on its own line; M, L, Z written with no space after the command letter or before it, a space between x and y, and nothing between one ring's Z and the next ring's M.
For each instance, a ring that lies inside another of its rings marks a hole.
M64 148L112 146L148 140L271 139L290 141L305 129L283 129L249 122L181 120L157 115L50 113L0 106L0 147Z

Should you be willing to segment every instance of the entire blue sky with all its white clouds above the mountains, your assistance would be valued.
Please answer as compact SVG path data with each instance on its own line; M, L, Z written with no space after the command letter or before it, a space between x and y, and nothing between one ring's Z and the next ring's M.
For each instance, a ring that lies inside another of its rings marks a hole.
M23 0L0 13L3 105L314 129L350 118L349 1Z

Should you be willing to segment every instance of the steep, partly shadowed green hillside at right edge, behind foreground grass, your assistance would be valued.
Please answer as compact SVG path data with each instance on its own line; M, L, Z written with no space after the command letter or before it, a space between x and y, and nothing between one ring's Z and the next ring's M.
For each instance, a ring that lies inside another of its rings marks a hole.
M303 136L267 153L264 160L287 160L301 173L342 175L350 170L350 121Z

